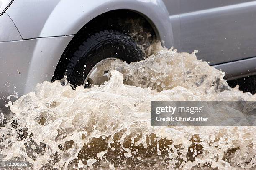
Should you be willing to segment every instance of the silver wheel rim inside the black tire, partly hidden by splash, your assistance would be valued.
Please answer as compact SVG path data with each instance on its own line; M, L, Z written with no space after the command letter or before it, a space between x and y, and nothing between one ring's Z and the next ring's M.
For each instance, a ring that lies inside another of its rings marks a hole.
M84 81L84 88L89 88L92 85L103 85L110 78L111 62L116 58L106 58L98 62L87 75Z

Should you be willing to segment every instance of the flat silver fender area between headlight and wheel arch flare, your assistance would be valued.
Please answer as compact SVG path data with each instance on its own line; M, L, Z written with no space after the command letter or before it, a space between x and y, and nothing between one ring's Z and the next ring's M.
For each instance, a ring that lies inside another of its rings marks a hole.
M41 37L41 30L59 1L15 0L6 10L6 13L12 18L23 39L38 38ZM61 17L62 14L59 15ZM48 35L46 37L58 35Z

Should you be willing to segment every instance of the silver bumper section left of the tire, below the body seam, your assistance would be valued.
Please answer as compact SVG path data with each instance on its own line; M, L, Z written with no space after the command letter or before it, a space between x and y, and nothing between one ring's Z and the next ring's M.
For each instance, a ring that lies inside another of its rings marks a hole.
M1 35L0 35L1 36ZM23 95L51 81L73 35L0 42L0 108L9 95Z

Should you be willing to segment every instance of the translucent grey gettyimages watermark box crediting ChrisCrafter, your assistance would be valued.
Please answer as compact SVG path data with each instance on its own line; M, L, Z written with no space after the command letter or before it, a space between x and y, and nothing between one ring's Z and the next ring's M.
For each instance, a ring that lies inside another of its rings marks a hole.
M151 125L253 126L255 101L151 101Z

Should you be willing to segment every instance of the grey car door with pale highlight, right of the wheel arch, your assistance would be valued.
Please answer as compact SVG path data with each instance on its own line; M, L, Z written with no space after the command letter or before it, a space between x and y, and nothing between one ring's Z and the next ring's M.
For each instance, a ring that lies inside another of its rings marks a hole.
M180 0L180 50L210 65L256 56L256 1Z

